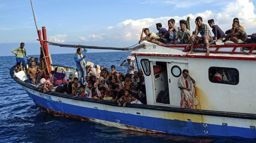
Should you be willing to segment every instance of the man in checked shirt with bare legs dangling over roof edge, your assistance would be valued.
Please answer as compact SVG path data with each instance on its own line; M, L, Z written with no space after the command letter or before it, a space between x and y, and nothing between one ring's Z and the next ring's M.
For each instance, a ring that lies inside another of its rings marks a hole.
M209 27L202 22L203 22L202 17L198 16L195 21L196 30L194 35L192 35L192 38L191 38L191 48L190 48L190 51L187 53L187 55L193 54L194 45L199 45L199 44L202 46L206 46L207 53L205 54L205 56L208 56L210 54L209 43L212 42L212 35ZM198 32L201 34L202 37L197 36Z

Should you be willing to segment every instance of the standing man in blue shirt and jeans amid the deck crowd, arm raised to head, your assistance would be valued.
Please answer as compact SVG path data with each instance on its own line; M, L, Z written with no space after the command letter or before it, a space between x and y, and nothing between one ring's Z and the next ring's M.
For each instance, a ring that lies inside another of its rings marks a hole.
M83 84L86 80L86 63L84 61L84 58L86 55L82 55L82 49L77 48L76 49L76 54L74 55L74 60L76 61L76 71L78 74L78 80L80 84ZM83 82L82 82L82 77L83 77Z

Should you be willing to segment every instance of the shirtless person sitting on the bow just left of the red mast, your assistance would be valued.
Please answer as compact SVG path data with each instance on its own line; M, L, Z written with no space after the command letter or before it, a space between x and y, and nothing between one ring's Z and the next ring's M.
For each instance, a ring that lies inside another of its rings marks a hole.
M31 67L27 69L27 74L29 75L29 79L31 80L31 83L36 84L38 82L39 78L41 77L42 73L46 67L43 70L40 70L37 66L35 66L36 63L34 61L31 61ZM39 71L40 73L36 74L36 71Z

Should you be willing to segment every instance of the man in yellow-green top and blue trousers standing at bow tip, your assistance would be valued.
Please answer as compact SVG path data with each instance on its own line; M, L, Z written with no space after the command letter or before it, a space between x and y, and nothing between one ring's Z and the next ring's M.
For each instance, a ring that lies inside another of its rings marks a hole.
M24 54L27 58L29 58L29 56L27 56L27 52L24 46L25 46L25 43L20 43L20 47L11 50L11 52L16 55L16 62L22 63L22 66L27 70L27 65L24 60ZM15 51L17 51L17 53L15 53Z

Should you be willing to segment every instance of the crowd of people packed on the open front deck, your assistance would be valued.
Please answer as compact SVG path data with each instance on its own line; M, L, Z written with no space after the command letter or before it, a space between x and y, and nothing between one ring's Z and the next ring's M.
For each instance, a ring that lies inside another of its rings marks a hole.
M21 50L23 52L20 52ZM123 106L128 103L146 104L145 79L142 69L135 71L134 60L127 58L120 64L127 69L125 74L116 71L115 65L112 65L109 71L104 66L86 66L86 55L83 55L82 49L78 48L74 55L77 75L74 72L67 75L65 70L59 69L59 67L47 75L42 74L47 67L44 66L43 69L40 69L38 58L28 58L24 52L24 43L21 43L19 48L12 50L12 52L14 51L20 53L19 57L16 56L15 72L26 71L29 82L44 93L56 91L71 96L110 100ZM24 60L24 54L28 58L27 63ZM15 53L15 55L18 54ZM28 68L26 64L28 64ZM66 77L69 79L66 80Z

